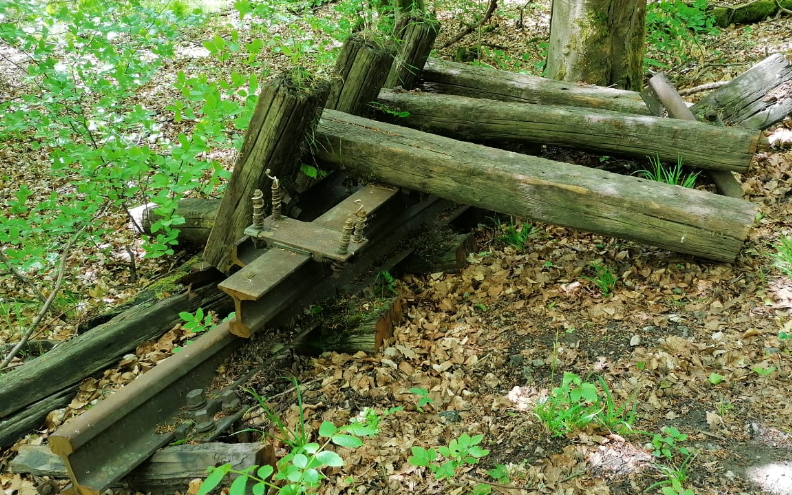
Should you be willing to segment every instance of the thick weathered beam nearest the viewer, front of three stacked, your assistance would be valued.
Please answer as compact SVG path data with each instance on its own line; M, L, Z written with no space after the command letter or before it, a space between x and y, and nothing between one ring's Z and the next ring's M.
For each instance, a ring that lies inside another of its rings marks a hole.
M757 206L326 110L315 158L459 203L734 261Z

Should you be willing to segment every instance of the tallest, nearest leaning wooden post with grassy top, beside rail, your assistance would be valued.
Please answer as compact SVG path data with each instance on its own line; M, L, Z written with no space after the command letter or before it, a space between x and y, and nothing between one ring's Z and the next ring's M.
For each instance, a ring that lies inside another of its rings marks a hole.
M296 75L301 71L298 68L275 79L259 96L204 250L204 259L222 272L231 268L231 246L253 223L253 192L260 189L266 205L271 205L272 180L265 172L270 170L278 178L282 190L293 187L296 165L329 91L323 81L314 82L310 89L300 86L311 82L303 75L298 84Z

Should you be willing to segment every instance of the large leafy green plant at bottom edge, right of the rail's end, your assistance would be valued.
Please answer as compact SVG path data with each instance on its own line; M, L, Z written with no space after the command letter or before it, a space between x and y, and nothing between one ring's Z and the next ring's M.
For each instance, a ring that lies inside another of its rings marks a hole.
M207 495L214 490L228 474L239 475L231 483L231 495L244 495L247 493L247 483L252 481L252 492L263 495L268 490L273 490L282 495L299 495L313 493L326 479L322 473L324 468L340 468L344 466L343 458L328 450L330 444L348 449L358 448L363 445L362 437L372 437L379 434L379 421L381 417L372 409L366 409L361 417L344 426L336 426L329 421L324 421L319 426L316 435L321 442L311 441L312 433L305 428L304 404L302 393L297 380L292 378L297 391L297 404L299 409L298 423L290 429L286 423L267 406L264 398L255 391L248 392L256 399L259 406L277 428L279 434L274 438L288 447L288 453L276 463L276 468L270 465L251 466L243 470L233 469L231 464L210 467L209 476L201 484L197 495ZM385 413L390 414L398 408Z

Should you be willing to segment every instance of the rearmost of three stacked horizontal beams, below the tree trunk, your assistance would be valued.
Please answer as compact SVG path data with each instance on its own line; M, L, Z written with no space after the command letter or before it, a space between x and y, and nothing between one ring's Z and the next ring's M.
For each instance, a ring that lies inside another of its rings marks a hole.
M563 105L650 115L635 91L554 81L437 58L427 60L421 89L470 98Z

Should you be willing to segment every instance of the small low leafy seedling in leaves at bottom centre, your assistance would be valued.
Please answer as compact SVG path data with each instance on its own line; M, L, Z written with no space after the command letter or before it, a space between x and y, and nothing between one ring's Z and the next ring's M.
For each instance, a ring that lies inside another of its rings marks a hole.
M469 436L463 433L458 439L451 440L447 447L424 449L412 447L412 456L407 459L413 466L426 467L434 474L435 479L452 479L458 468L465 465L478 464L479 459L489 454L489 450L479 446L484 435ZM442 456L445 462L439 457ZM475 493L486 494L489 485L481 483L474 488Z

